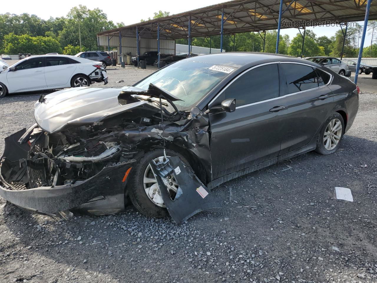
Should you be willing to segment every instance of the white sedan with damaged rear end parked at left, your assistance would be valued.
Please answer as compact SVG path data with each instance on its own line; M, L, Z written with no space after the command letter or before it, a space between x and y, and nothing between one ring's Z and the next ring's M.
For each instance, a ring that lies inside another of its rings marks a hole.
M107 84L101 62L69 55L27 57L0 69L0 97L8 93Z

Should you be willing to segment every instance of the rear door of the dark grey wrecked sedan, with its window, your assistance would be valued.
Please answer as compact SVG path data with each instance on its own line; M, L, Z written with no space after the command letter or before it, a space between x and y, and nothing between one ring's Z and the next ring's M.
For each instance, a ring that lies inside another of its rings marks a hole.
M285 109L279 112L280 126L284 132L279 154L282 155L313 141L333 107L331 102L334 96L313 67L284 62L280 67L281 73L285 75ZM330 75L325 74L328 83ZM280 78L284 79L283 76Z

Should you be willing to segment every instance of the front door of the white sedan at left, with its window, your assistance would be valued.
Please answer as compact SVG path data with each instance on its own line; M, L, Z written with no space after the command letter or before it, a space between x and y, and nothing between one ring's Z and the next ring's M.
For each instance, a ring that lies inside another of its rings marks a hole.
M43 64L44 57L30 57L15 65L16 71L8 71L6 74L9 92L46 88Z

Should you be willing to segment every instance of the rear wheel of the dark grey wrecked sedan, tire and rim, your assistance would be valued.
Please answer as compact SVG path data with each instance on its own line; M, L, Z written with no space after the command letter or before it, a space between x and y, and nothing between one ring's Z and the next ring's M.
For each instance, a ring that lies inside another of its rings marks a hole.
M340 129L337 129L339 127L337 125L338 122L340 122L340 125L342 126ZM333 130L331 130L332 126ZM328 127L330 127L330 129ZM322 129L319 132L317 138L317 148L315 149L315 151L323 155L332 154L336 152L339 148L340 142L342 141L344 129L345 128L342 115L340 115L338 112L334 112L333 114L331 114L330 117L326 119L325 123L323 123ZM329 136L329 138L325 138L325 133L327 137Z

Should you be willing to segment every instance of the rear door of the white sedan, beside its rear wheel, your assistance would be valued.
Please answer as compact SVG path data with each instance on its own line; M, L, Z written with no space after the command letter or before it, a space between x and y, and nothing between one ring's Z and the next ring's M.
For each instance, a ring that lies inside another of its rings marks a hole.
M44 59L44 77L48 87L69 86L72 74L76 69L74 60L67 57L53 56Z

